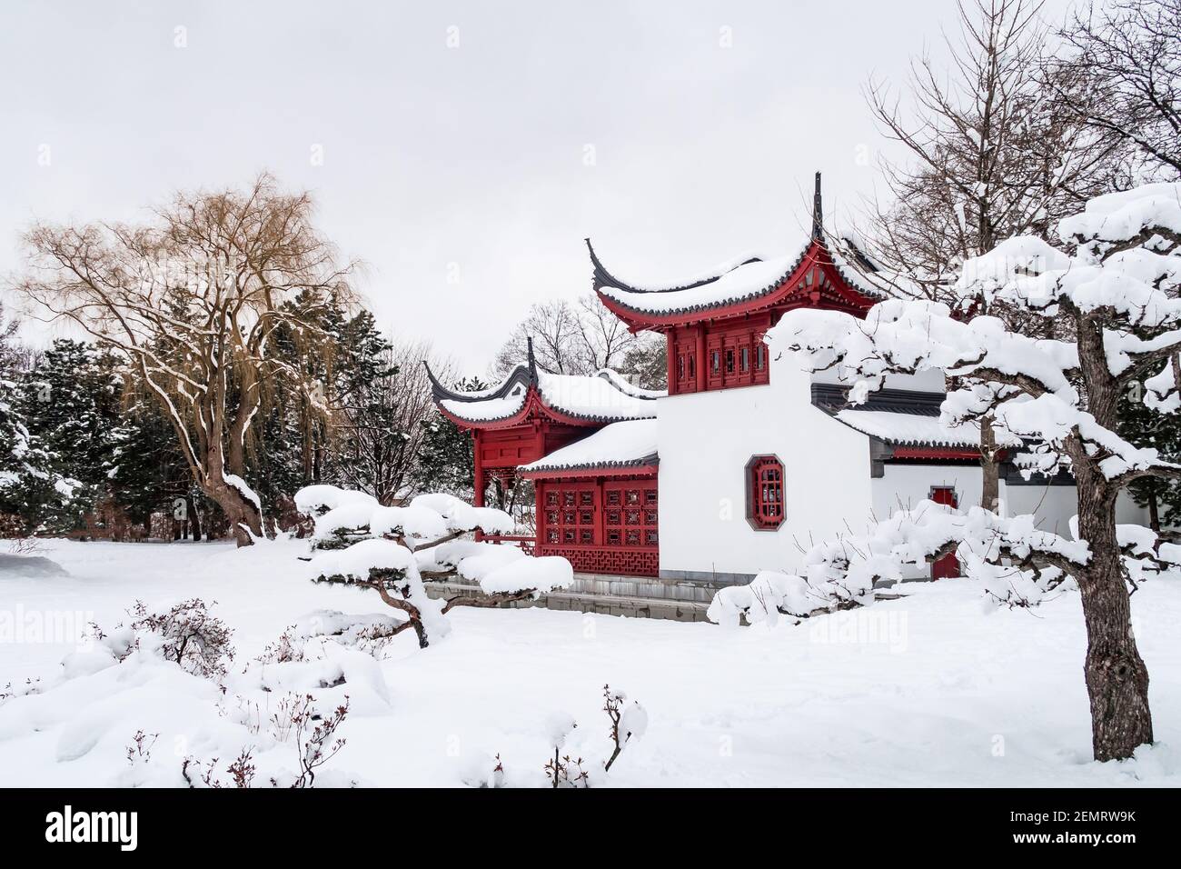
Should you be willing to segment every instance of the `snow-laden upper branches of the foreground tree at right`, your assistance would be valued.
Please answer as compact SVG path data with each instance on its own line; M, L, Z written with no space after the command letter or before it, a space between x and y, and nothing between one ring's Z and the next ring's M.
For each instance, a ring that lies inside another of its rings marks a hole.
M1064 253L1036 238L1014 238L968 260L952 306L889 299L864 320L835 311L790 311L768 333L779 351L801 354L805 368L836 369L861 403L888 375L938 369L961 378L948 393L941 422L954 429L986 415L998 442L1031 442L1052 471L1077 439L1107 479L1120 485L1146 474L1181 476L1181 467L1140 449L1100 424L1081 387L1081 354L1102 355L1111 389L1149 378L1146 402L1181 407L1181 183L1149 184L1101 196L1063 220L1059 233L1078 245ZM1127 245L1137 242L1140 246ZM1083 328L1076 341L1035 339L994 317L974 317L974 303L1004 301L1044 317L1069 313ZM1081 348L1079 342L1087 346Z

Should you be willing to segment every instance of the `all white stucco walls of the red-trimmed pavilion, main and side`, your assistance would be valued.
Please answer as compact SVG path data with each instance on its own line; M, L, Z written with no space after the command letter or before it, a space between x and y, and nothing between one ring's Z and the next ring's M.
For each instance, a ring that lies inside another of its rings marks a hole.
M941 390L939 372L894 377L896 389ZM660 454L660 571L670 578L726 581L759 570L795 570L811 543L862 533L870 521L954 486L960 507L980 502L976 465L886 465L873 478L869 439L811 403L811 381L789 355L771 361L768 385L676 395L657 402ZM746 520L745 468L775 454L784 466L787 518L778 531ZM1009 515L1033 513L1040 527L1069 534L1074 486L1007 486ZM1117 521L1147 524L1121 495ZM798 545L797 545L798 544Z

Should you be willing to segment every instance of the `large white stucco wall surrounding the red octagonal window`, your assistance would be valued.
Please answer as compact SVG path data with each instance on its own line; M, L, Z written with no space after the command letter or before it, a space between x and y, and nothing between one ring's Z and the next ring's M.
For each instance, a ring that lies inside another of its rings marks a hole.
M797 541L864 530L869 439L813 406L810 378L789 357L771 361L770 380L658 401L663 575L790 570ZM763 454L784 466L778 531L746 521L746 462Z

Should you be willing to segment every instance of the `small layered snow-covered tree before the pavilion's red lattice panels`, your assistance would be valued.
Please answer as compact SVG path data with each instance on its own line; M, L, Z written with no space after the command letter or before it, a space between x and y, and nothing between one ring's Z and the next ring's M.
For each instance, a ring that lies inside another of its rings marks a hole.
M498 607L533 599L568 584L574 570L565 558L529 558L515 546L459 539L469 532L509 533L508 513L472 507L449 494L423 494L404 507L385 507L370 495L335 486L309 486L295 495L300 510L315 515L308 577L313 582L372 589L406 622L371 628L380 641L409 627L420 648L444 636L442 616L454 607ZM431 599L423 584L459 576L475 582L483 597Z

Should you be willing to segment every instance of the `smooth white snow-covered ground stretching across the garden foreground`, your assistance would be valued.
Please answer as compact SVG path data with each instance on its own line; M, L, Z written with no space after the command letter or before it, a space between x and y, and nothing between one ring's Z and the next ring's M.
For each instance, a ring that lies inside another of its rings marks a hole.
M301 541L242 551L53 541L41 555L68 576L0 572L0 688L52 683L76 649L59 634L90 620L110 631L137 598L149 609L217 601L214 612L235 630L231 680L309 611L392 612L373 592L304 579L295 558L305 551ZM431 648L420 651L405 631L379 668L319 692L352 701L338 732L347 744L325 770L346 783L461 785L500 753L509 784L544 785L555 713L579 722L563 751L588 769L609 754L609 682L648 713L642 739L602 782L614 786L1181 783L1176 583L1149 582L1133 598L1157 745L1107 765L1090 761L1077 594L1031 614L986 611L967 581L906 591L771 629L459 608ZM125 662L0 703L0 785L181 785L187 754L216 754L224 766L230 746L253 739L217 711L233 705L234 688L223 698L172 670ZM150 769L129 764L136 731L159 734ZM260 750L260 769L285 753L294 766L292 747Z

